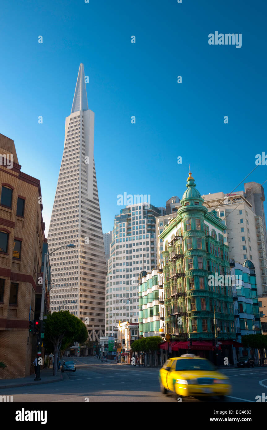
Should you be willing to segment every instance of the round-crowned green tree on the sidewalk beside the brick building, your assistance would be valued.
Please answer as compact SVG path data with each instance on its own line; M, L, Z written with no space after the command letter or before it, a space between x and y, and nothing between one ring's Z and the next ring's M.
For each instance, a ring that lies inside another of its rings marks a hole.
M47 316L44 344L46 350L54 351L54 375L57 372L58 354L74 342L85 342L88 331L85 324L68 310L53 312Z

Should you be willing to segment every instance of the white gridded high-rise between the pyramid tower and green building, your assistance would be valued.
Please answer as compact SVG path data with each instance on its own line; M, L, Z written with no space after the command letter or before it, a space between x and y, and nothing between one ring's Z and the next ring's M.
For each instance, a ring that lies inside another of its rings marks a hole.
M149 208L149 209L148 209ZM138 322L138 275L157 266L156 217L164 208L126 206L114 218L106 281L106 335L119 321Z

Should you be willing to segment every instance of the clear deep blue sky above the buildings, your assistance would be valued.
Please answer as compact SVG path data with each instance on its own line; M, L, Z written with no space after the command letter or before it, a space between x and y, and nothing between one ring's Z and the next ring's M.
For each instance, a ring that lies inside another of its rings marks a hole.
M46 234L81 62L104 232L117 194L150 194L155 206L181 197L189 163L201 194L242 181L267 153L266 12L264 0L2 2L0 132L41 181ZM242 47L209 45L215 31L242 33ZM246 181L266 178L259 166Z

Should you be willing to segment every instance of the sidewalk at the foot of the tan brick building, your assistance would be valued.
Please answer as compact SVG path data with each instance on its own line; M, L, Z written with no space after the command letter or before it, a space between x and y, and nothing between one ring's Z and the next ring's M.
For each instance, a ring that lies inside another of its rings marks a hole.
M35 375L26 376L25 378L0 379L0 390L3 388L24 387L25 385L49 384L63 380L61 372L53 376L53 369L44 369L41 371L41 381L34 381Z

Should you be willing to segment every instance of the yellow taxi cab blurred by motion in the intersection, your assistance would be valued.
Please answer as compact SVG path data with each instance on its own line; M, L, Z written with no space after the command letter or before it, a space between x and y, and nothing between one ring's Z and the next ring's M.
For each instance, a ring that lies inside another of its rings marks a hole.
M229 378L218 372L207 360L194 354L168 359L160 369L160 391L172 391L178 396L220 396L224 400L231 392Z

